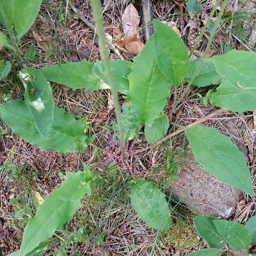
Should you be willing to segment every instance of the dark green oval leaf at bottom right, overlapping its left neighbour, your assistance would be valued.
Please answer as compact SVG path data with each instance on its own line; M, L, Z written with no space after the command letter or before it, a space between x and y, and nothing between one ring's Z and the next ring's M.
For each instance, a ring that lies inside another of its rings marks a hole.
M250 233L247 229L236 222L225 220L213 221L218 233L227 241L227 243L236 250L240 248L247 250L250 243Z

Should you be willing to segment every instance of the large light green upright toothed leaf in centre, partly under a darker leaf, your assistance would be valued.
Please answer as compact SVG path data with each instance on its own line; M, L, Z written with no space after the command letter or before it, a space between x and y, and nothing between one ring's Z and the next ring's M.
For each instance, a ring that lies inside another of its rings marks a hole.
M134 58L128 90L131 108L135 108L138 123L152 123L167 104L171 82L159 70L153 49L154 38L146 42L143 50Z

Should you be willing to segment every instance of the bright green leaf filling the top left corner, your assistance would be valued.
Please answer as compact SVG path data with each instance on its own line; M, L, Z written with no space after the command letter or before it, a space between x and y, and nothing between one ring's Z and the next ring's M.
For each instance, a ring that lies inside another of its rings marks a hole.
M32 26L42 0L0 0L0 11L6 26L14 23L20 39Z

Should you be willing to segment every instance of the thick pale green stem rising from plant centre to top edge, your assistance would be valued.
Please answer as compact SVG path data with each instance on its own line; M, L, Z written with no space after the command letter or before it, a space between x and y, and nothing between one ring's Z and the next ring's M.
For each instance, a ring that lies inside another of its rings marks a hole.
M104 58L106 77L108 80L108 84L111 87L111 94L112 94L112 99L113 99L115 112L116 112L117 125L119 127L119 140L120 140L121 149L122 149L122 157L123 159L125 159L125 143L124 143L124 136L123 136L123 130L122 130L121 111L120 111L119 102L118 102L116 85L114 83L113 74L111 72L108 49L106 47L107 42L104 35L102 18L100 15L99 0L91 0L90 2L93 8L93 14L94 14L94 19L96 23L96 32L99 38L99 45L102 49L102 56Z

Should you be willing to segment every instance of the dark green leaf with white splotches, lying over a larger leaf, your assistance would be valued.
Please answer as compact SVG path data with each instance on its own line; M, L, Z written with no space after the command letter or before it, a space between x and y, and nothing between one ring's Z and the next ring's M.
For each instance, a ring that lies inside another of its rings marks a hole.
M53 99L49 82L41 71L27 67L20 72L25 87L25 102L32 114L38 132L47 137L53 121Z

